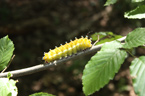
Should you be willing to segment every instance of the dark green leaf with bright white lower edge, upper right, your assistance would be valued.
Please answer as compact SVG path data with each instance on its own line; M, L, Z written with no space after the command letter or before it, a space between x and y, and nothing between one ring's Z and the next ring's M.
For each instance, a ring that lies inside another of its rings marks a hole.
M137 8L135 8L129 12L125 12L124 17L128 18L128 19L145 18L145 5L138 6Z

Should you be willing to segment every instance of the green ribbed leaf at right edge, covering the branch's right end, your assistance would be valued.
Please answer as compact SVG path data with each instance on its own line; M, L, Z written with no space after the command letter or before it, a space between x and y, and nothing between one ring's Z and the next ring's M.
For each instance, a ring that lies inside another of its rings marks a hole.
M136 28L127 35L123 47L131 49L133 47L138 47L144 44L145 44L145 28Z

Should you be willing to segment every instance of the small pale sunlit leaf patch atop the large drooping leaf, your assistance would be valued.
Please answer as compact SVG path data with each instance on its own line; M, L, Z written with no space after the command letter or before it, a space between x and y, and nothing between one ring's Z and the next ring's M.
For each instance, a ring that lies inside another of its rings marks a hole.
M106 50L106 49L117 49L117 48L122 48L123 45L120 43L120 41L112 41L112 42L106 42L102 48L101 51Z

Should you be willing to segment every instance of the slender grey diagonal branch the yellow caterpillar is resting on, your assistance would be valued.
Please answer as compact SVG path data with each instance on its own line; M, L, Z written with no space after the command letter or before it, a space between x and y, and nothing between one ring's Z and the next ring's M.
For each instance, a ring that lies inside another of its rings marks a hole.
M124 41L125 38L126 38L126 36L125 37L122 37L122 38L120 38L118 40L119 41ZM36 73L36 72L40 72L40 71L43 71L43 70L48 69L49 67L62 64L64 62L66 62L66 61L69 61L69 60L72 60L72 59L75 59L75 58L84 56L86 54L90 54L90 53L97 52L102 47L102 45L103 44L93 46L90 49L87 49L85 51L78 52L77 55L74 54L74 55L69 56L67 58L57 60L56 62L53 62L53 63L39 64L39 65L32 66L32 67L29 67L29 68L24 68L24 69L19 69L19 70L14 70L14 71L9 71L9 72L5 72L5 73L1 73L0 74L0 77L6 77L8 73L11 73L13 77L19 77L19 76L24 76L24 75L28 75L28 74L33 74L33 73Z

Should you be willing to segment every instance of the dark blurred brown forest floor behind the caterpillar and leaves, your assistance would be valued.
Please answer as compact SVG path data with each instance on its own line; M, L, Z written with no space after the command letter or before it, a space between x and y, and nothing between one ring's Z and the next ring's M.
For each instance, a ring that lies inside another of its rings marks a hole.
M145 24L144 20L128 20L124 12L137 6L130 0L118 0L105 7L106 0L0 0L0 38L9 35L15 44L14 58L8 70L43 63L43 53L75 37L89 37L94 32L127 35ZM145 54L137 49L138 55ZM68 61L46 71L18 79L19 96L48 92L57 96L84 96L81 76L92 54ZM132 96L128 58L103 89L92 96Z

